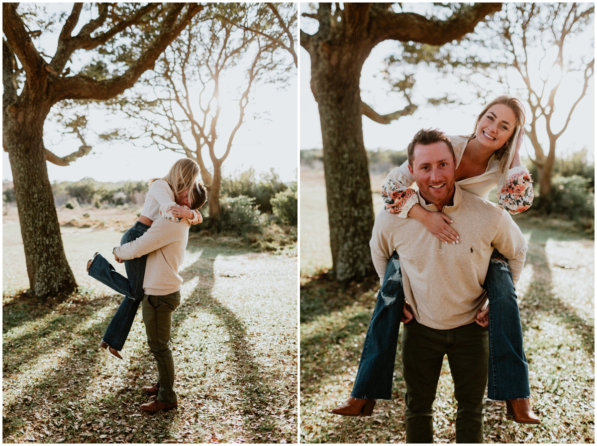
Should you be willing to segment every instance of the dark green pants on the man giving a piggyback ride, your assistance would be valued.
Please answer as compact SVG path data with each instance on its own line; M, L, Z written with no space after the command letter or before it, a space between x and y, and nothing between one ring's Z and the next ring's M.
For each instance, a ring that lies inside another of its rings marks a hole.
M432 329L415 319L404 325L402 370L407 385L407 443L433 442L432 405L446 354L458 402L456 442L483 442L488 339L487 328L475 322L451 330Z

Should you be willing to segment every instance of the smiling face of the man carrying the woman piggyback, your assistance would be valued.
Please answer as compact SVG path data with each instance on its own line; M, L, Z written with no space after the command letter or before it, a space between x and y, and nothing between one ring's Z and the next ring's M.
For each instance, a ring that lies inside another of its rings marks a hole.
M456 159L450 153L450 148L444 141L417 144L413 157L413 166L409 165L408 170L414 176L421 196L428 203L445 206L447 203L444 202L452 198L456 171Z

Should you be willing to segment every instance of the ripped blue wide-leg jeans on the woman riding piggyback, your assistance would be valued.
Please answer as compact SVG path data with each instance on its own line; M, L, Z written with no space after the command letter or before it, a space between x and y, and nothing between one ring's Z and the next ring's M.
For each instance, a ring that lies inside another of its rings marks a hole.
M489 370L487 396L503 401L528 398L528 364L522 349L522 327L512 273L494 250L485 278L489 299ZM392 378L404 289L397 253L387 263L377 304L365 337L351 396L392 399Z

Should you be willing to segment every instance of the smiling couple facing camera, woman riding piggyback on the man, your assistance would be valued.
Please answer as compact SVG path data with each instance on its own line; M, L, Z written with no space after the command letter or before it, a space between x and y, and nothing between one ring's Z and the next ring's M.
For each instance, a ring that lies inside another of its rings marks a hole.
M402 320L407 442L433 442L446 354L457 442L482 442L486 386L488 398L506 401L509 419L540 424L515 293L528 247L509 215L533 202L519 157L524 123L520 101L498 97L468 137L417 132L408 161L388 174L370 242L381 289L351 397L333 413L370 415L376 399L391 399ZM487 201L496 184L499 205Z

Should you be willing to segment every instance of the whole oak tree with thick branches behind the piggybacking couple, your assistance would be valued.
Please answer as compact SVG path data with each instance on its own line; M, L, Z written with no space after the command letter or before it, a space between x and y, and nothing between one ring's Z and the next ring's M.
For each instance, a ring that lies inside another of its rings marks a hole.
M330 247L339 280L371 271L369 240L373 228L367 154L362 116L389 123L416 109L381 116L361 101L359 80L365 59L377 44L391 39L442 45L473 32L501 3L460 5L449 17L396 13L390 3L320 3L313 35L300 32L301 47L311 59L311 90L318 104L330 222Z

